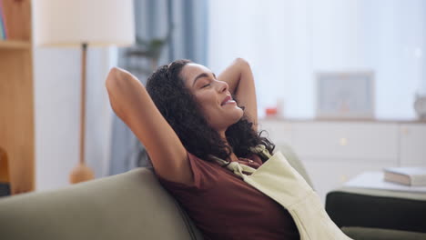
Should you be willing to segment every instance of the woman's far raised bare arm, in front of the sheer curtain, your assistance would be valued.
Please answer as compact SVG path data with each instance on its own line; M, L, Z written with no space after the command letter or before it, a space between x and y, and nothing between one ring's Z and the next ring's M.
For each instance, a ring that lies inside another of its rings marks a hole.
M249 115L255 131L258 129L258 105L256 102L256 89L253 73L249 63L237 58L220 75L218 80L229 85L229 91L238 99L238 104L245 106L244 112Z

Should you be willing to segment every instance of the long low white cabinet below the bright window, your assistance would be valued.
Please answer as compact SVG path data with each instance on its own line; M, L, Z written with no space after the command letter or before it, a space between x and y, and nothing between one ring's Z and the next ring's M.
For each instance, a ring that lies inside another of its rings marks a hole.
M262 120L277 145L290 145L324 202L350 178L383 167L426 165L426 123Z

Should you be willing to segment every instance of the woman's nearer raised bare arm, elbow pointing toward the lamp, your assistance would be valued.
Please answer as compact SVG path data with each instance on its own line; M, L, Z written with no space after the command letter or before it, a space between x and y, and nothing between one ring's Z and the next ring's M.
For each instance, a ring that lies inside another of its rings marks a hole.
M145 87L134 75L117 67L110 70L105 84L114 112L145 145L157 174L170 181L190 183L193 176L187 151Z

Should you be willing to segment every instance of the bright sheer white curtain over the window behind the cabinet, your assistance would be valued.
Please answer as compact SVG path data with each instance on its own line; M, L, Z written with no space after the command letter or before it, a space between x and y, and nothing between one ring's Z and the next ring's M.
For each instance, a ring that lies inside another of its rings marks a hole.
M376 116L415 117L426 92L426 3L421 0L210 0L208 65L249 60L259 116L284 101L291 118L315 116L315 74L372 70ZM213 14L214 13L214 14Z

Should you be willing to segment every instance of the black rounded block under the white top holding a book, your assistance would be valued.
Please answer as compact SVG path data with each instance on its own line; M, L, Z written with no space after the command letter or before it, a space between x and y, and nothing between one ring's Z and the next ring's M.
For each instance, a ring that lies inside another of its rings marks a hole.
M363 226L426 233L426 195L343 187L326 197L339 227Z

